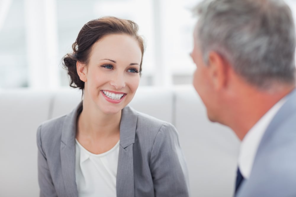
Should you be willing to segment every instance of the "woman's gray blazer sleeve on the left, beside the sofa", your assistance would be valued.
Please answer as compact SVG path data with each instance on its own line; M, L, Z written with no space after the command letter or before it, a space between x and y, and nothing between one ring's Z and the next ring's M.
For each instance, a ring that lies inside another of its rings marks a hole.
M57 197L57 193L52 182L46 155L42 149L41 127L37 130L37 146L38 146L38 183L40 187L40 197Z

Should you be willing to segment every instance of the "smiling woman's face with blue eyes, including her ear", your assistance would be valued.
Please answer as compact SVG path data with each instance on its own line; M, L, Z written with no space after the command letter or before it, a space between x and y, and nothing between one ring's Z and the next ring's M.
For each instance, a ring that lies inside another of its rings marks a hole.
M141 58L139 43L130 35L111 34L94 43L89 63L81 68L85 102L106 114L120 112L139 86Z

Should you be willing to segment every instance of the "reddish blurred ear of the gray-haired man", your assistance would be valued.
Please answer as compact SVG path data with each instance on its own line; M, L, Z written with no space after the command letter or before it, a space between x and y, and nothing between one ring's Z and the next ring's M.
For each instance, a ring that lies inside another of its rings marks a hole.
M214 88L221 90L228 82L229 63L219 53L210 51L208 66L210 69L210 77L212 77Z

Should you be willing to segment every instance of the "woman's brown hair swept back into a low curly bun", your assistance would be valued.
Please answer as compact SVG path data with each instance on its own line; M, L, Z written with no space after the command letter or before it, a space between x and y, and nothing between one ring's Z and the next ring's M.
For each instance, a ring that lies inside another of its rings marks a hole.
M78 33L75 43L72 45L73 53L66 54L62 63L70 76L70 86L74 88L84 89L84 82L80 80L77 70L77 61L87 64L92 45L106 35L110 34L127 34L139 42L142 52L139 72L142 71L142 61L144 54L144 40L138 35L138 25L126 19L116 17L102 17L94 19L86 23Z

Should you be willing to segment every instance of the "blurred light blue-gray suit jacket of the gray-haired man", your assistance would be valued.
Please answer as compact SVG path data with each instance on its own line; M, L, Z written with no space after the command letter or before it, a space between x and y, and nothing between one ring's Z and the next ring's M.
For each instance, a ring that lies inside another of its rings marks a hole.
M296 196L296 90L287 95L259 144L237 197Z

